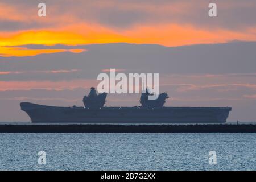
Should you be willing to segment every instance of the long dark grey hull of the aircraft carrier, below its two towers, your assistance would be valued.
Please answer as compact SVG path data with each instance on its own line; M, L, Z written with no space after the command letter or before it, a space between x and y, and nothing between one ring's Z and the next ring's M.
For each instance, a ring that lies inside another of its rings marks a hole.
M224 123L230 107L55 107L22 102L32 123Z

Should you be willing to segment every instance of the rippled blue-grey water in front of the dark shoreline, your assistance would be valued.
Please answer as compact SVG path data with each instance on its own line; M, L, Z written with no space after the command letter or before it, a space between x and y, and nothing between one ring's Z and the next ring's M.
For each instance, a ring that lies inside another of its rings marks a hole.
M255 133L0 133L0 151L2 170L256 170Z

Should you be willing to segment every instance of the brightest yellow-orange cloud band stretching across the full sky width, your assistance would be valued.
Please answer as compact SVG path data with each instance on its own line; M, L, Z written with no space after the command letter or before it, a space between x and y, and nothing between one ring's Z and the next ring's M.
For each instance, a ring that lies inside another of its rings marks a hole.
M183 46L191 44L225 43L231 40L256 40L256 28L247 31L203 30L190 25L159 24L158 26L134 26L129 30L115 31L110 28L84 24L73 25L60 30L22 31L3 33L0 46L19 46L26 44L82 45L102 43L161 44L164 46ZM1 48L1 49L2 49ZM20 49L19 49L20 50ZM23 52L27 50L22 50Z

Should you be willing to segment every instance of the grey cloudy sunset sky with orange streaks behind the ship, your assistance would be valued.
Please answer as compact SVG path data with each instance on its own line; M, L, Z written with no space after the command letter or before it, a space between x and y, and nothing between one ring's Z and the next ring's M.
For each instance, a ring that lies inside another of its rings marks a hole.
M29 121L20 102L82 105L97 75L159 73L166 106L230 106L256 121L256 1L0 0L0 121ZM139 105L109 94L108 106Z

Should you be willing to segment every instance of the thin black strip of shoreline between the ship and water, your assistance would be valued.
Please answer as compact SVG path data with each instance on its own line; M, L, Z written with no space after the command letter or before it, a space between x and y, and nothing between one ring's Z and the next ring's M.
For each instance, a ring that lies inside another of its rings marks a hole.
M0 133L256 133L256 125L0 124Z

